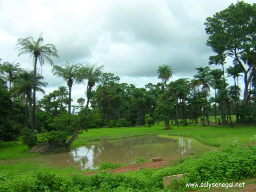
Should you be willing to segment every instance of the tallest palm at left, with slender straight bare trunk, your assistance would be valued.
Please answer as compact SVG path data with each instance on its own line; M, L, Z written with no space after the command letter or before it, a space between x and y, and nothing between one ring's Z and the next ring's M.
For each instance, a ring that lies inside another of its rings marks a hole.
M19 54L31 54L34 60L34 80L33 80L33 110L32 110L32 131L35 129L35 118L36 118L36 65L37 61L39 60L40 65L43 65L45 60L53 65L53 61L50 56L59 57L57 54L56 47L52 44L45 44L43 43L43 38L41 37L42 34L38 37L36 41L32 38L32 36L26 38L18 39L17 49L19 50Z

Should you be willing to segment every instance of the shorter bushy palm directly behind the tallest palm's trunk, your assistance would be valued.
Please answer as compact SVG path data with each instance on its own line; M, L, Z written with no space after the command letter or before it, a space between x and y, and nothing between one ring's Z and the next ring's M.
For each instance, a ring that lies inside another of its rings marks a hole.
M48 83L41 81L43 76L36 74L36 91L45 93L41 87L46 87ZM18 75L17 79L13 80L13 87L11 88L11 96L20 96L25 101L25 124L28 126L27 120L27 106L29 105L29 114L32 116L32 88L34 83L34 72L33 71L22 71ZM32 126L32 117L31 117Z

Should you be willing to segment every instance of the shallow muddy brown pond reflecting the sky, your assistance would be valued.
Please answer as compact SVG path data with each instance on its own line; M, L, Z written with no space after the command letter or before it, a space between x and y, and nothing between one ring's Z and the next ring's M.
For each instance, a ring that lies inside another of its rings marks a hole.
M154 157L168 158L189 152L215 150L216 147L204 145L193 138L180 136L144 136L122 140L89 142L68 153L44 156L46 163L78 170L96 169L101 162L132 164L138 158L150 160Z

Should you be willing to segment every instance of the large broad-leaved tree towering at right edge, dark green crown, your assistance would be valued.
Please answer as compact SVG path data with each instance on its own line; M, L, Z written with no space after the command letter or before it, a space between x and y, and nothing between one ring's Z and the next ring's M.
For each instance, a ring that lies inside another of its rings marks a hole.
M256 4L238 1L227 9L217 12L206 19L207 45L216 56L213 63L222 63L225 57L234 59L244 74L243 104L249 101L249 83L255 74L256 65Z

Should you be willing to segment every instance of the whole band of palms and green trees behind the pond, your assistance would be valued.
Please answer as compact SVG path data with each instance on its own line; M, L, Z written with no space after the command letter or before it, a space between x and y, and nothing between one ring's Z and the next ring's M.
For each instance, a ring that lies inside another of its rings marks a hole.
M254 122L255 10L256 4L238 1L208 17L204 23L209 35L206 45L215 52L209 57L209 66L196 68L193 79L170 81L171 66L160 65L156 74L161 82L148 83L144 88L120 83L119 77L103 72L103 65L69 62L53 65L57 49L52 44L43 45L41 35L36 40L31 36L18 39L19 55L30 54L34 70L23 70L15 62L0 63L0 140L16 139L23 127L29 127L36 143L38 132L63 131L74 139L80 129L97 127L146 123L150 126L159 121L165 122L166 129L173 124L209 125L210 115L215 116L216 123L231 126L234 123L231 115L236 115L236 123ZM227 57L233 59L232 65L227 66ZM37 72L38 62L42 65L45 61L52 65L53 75L63 78L67 86L59 86L36 100L36 91L44 93L47 86ZM211 65L221 68L211 69ZM238 84L240 77L244 90ZM229 85L227 78L233 78L234 84ZM79 83L87 84L86 97L79 98L78 105L72 105L72 86ZM211 89L214 97L210 97Z

